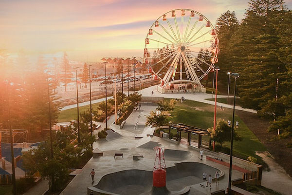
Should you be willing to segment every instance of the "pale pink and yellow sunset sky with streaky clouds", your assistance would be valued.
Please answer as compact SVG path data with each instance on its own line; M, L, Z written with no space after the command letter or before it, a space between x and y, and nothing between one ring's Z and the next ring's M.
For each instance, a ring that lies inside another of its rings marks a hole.
M286 0L289 9L292 0ZM220 14L244 17L248 0L0 0L0 48L9 53L55 54L100 61L142 56L152 23L173 9L200 12L215 24Z

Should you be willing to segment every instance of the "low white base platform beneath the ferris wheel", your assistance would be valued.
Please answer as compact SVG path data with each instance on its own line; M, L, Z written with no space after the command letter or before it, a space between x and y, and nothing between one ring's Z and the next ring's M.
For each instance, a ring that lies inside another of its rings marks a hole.
M162 93L162 94L194 94L194 93L206 93L206 88L204 87L200 87L197 86L196 88L192 87L192 88L187 88L187 87L183 87L182 85L180 86L180 84L175 84L177 86L175 86L173 89L171 89L170 87L162 87L162 86L157 86L157 91Z

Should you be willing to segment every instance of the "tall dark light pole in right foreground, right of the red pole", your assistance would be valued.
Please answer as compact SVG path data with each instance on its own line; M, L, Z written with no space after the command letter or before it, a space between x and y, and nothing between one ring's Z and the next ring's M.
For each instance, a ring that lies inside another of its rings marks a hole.
M230 140L230 161L229 161L229 178L228 178L228 194L231 195L231 176L232 176L232 152L233 152L233 133L234 133L234 114L235 114L235 96L236 96L236 81L239 78L238 73L232 73L231 76L235 79L234 83L234 100L233 100L233 115L232 115L232 129Z

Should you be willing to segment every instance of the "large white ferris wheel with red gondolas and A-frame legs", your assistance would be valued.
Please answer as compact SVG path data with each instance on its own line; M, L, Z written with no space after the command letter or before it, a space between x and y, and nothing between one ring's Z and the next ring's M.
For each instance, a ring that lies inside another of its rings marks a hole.
M191 9L166 12L153 22L145 39L144 62L161 86L200 80L218 62L219 39L210 20Z

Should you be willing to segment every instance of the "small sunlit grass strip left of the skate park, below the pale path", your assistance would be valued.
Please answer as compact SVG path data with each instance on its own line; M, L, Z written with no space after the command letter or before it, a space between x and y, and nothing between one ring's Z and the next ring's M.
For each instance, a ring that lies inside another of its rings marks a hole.
M97 109L99 103L92 104L92 109ZM83 113L84 111L90 109L90 105L87 106L80 106L79 113ZM77 119L77 108L71 108L68 110L61 111L58 117L58 122L69 122L71 120Z

